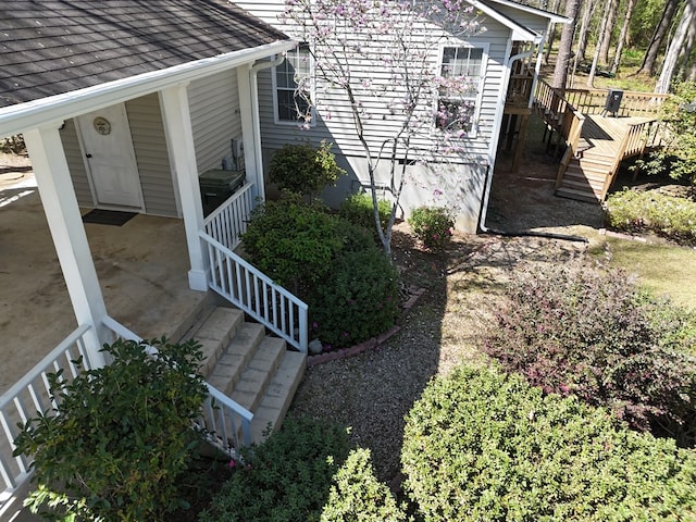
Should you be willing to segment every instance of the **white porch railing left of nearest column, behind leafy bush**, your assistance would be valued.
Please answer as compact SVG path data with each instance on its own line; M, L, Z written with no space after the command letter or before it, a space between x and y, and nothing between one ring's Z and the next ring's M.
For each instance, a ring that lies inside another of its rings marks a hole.
M70 334L48 356L32 369L22 380L0 396L0 476L4 489L0 494L0 514L3 505L12 494L32 476L30 457L13 457L14 438L20 433L17 423L26 423L37 411L57 408L50 398L49 373L63 371L62 377L70 382L83 370L90 370L91 363L85 349L85 334L90 326L83 325ZM77 361L82 359L82 364Z

